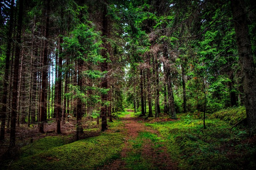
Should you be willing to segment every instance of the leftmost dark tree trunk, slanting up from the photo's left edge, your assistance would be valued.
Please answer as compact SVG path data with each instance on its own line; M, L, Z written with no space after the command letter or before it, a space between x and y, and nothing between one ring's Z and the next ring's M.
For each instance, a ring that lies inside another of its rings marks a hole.
M6 105L7 105L7 93L8 93L8 75L10 66L10 55L11 55L11 44L12 44L12 29L13 29L13 17L14 14L14 0L11 1L10 6L10 20L9 20L9 30L8 30L8 42L5 58L5 71L4 71L4 87L3 87L3 99L2 99L2 112L1 112L1 131L0 131L0 141L4 140L5 137L5 120L6 120Z

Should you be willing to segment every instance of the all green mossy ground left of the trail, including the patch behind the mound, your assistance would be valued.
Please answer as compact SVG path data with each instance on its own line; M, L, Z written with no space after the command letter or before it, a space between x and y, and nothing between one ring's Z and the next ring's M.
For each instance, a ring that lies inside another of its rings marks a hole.
M62 137L45 137L22 148L20 158L6 170L84 170L117 159L124 147L122 122L108 123L110 131L97 137L64 144Z

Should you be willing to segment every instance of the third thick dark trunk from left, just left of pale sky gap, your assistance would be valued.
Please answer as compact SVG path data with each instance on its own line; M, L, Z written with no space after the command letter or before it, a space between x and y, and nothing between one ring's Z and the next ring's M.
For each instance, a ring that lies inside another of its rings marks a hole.
M47 0L47 10L46 10L46 23L45 23L45 41L44 41L44 55L42 62L42 82L41 82L41 96L40 96L40 119L39 119L39 132L44 133L44 119L45 119L45 110L46 110L46 84L47 84L47 58L48 58L48 40L49 37L49 12L50 12L50 0Z

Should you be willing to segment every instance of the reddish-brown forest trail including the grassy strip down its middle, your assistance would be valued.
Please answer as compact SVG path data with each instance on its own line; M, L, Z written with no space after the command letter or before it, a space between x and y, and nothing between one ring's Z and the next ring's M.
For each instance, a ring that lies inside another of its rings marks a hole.
M127 136L120 158L98 170L176 170L177 163L170 159L158 132L131 117L133 110L127 111L121 119Z

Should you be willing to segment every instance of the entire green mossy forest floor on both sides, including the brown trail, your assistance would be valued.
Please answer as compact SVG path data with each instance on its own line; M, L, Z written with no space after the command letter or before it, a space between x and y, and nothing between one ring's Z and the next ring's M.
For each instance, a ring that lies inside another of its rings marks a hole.
M114 114L117 119L108 123L108 130L99 136L75 142L70 135L34 141L21 148L17 160L8 160L1 169L249 170L256 167L256 137L248 136L243 125L232 128L243 119L242 107L207 115L206 129L202 113L179 114L177 120L166 114L145 120L138 113L117 112ZM86 131L95 129L91 126Z

